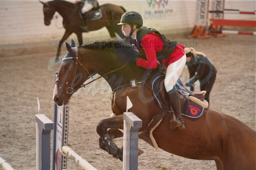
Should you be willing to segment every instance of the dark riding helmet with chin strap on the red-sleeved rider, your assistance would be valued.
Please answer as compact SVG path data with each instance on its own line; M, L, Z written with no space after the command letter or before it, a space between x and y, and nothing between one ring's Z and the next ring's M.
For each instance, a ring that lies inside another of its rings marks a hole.
M133 34L133 25L137 25L138 27L141 27L143 25L143 19L141 17L141 14L137 12L125 12L120 22L117 25L124 25L124 24L130 24L132 26L132 31L130 33L130 36Z

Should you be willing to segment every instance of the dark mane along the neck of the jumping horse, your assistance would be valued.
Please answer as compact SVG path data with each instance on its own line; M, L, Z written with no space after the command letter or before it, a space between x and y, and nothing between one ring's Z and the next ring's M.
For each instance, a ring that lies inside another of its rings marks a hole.
M107 40L87 43L81 46L82 49L112 52L121 61L135 61L138 53L133 49L131 42L127 40Z

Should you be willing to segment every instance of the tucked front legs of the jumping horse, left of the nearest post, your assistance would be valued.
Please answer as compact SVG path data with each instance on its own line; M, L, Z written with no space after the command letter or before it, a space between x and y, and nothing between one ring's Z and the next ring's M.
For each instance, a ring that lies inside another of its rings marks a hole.
M108 133L108 128L111 128ZM115 116L113 118L107 118L101 120L97 126L97 133L99 134L99 148L107 151L110 155L115 158L123 160L123 149L118 148L117 145L112 141L113 138L121 137L120 131L114 133L114 128L123 129L123 114Z

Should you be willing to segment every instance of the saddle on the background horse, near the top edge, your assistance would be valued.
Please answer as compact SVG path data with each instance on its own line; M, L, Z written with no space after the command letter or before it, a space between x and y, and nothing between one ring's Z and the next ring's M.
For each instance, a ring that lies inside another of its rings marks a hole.
M83 20L98 20L102 18L102 11L101 8L99 8L99 3L97 3L96 7L86 13L81 13L81 8L83 8L83 3L79 4L80 17Z

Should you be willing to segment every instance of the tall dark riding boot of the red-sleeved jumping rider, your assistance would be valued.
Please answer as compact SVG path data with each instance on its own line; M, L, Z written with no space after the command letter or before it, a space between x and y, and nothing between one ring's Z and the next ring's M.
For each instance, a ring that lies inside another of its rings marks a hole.
M171 121L170 128L185 128L185 123L182 120L182 112L180 111L180 95L178 94L176 86L173 87L170 91L167 92L170 100L170 107L173 107L173 112L171 112ZM172 109L171 109L172 110Z

